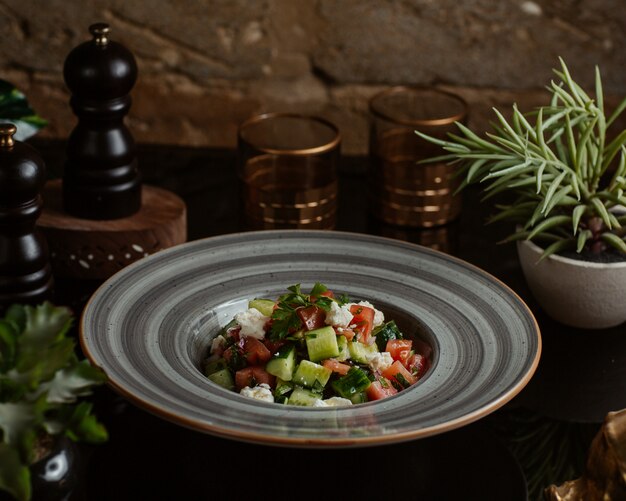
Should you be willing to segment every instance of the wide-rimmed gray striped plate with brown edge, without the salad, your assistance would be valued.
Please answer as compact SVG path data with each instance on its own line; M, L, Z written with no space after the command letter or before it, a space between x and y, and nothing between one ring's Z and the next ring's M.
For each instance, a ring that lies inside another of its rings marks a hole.
M203 376L211 339L249 299L317 281L426 339L428 374L347 408L259 402ZM541 351L528 307L486 272L397 240L325 231L231 234L161 251L102 285L80 327L86 356L137 405L206 433L300 447L398 442L471 423L526 385Z

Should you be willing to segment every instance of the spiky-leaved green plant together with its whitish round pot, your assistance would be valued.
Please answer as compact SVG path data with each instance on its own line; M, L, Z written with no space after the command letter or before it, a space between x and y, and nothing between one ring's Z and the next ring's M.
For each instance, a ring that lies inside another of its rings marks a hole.
M428 161L458 164L461 189L481 183L484 199L504 197L491 222L513 223L531 292L556 320L582 328L626 321L626 130L609 131L626 99L605 115L600 72L587 94L561 59L550 104L532 113L498 111L485 136L457 123L439 140L447 154ZM615 261L606 263L606 257ZM601 258L602 257L602 258Z

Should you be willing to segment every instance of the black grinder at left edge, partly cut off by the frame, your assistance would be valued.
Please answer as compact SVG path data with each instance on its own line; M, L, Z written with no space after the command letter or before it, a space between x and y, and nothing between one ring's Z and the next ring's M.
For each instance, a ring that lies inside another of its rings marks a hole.
M52 293L41 214L45 165L37 151L15 141L13 124L0 124L0 311L12 303L37 304Z

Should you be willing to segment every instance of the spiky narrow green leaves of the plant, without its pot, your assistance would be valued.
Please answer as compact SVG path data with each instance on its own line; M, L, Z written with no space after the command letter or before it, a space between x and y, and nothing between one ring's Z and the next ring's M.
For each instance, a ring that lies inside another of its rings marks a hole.
M497 123L486 137L460 123L447 141L416 133L448 152L427 161L459 165L459 189L480 182L483 200L508 194L509 203L495 205L489 220L518 225L505 241L536 241L542 259L570 249L626 254L626 130L607 137L626 99L607 118L598 68L592 98L560 62L560 81L547 87L549 106L523 114L513 105L510 121L494 109Z

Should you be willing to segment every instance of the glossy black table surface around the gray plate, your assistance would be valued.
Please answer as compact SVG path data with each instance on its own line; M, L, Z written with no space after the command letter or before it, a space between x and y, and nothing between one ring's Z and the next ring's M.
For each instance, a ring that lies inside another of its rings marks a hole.
M50 176L60 176L64 144L33 144ZM242 231L233 151L140 145L138 158L145 183L166 188L187 204L189 240ZM543 339L539 368L526 389L493 416L436 437L365 449L299 450L186 430L103 388L96 394L96 409L110 440L87 448L85 482L76 499L283 499L304 491L364 499L526 499L532 465L520 468L516 457L524 458L512 453L523 445L521 436L532 438L546 423L565 426L563 435L553 437L561 447L572 440L569 432L580 431L578 425L595 432L607 412L626 407L626 327L583 331L547 318L526 287L515 248L497 245L508 228L484 225L489 207L476 190L463 194L461 217L447 226L393 228L368 215L366 171L366 158L342 159L337 229L437 248L515 290L535 313ZM80 312L96 285L59 280L56 302ZM583 434L583 456L591 435ZM577 468L580 458L560 474L577 474ZM537 483L569 477L537 478L529 485L531 498Z

